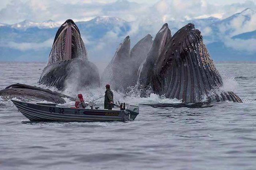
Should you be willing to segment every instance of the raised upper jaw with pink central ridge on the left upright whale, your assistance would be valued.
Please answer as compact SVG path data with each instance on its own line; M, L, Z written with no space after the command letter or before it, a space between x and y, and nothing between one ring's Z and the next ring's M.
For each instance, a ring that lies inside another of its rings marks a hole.
M78 27L73 20L68 19L60 26L55 35L48 65L75 58L87 60L87 51Z

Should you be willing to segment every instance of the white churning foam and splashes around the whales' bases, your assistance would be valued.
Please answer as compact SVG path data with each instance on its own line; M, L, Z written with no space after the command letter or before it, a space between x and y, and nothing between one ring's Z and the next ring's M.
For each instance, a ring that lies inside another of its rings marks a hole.
M72 86L69 86L69 88L66 88L64 91L60 91L58 90L56 87L47 87L43 84L33 84L37 87L41 87L41 88L48 88L49 90L52 91L56 91L59 92L61 94L65 94L68 96L72 96L74 98L77 98L78 94L82 94L83 98L85 101L93 101L97 98L100 98L102 96L105 95L105 87L84 87L84 88L80 88L78 91L76 91L75 89L72 88ZM214 90L212 90L210 92L210 94L218 94L221 93L221 91L236 91L236 89L238 88L238 83L236 82L236 80L234 78L228 78L225 77L223 78L223 86L216 88ZM178 99L169 99L166 98L165 96L159 96L157 94L151 93L148 97L142 98L140 97L140 88L138 87L130 87L129 90L131 92L129 93L122 93L119 91L113 91L114 94L114 102L120 101L120 103L125 102L125 103L129 103L129 104L159 104L159 103L181 103L181 100ZM13 98L15 100L19 100L17 98ZM71 99L68 98L64 98L65 102L64 104L60 104L63 106L74 106L75 102ZM20 100L19 100L20 101ZM97 100L97 104L96 105L103 105L103 101L104 101L104 97L100 98ZM201 98L202 102L206 102L207 101L207 96L202 96ZM40 103L52 103L52 102L48 102L48 101L31 101L32 103L36 103L36 102L40 102ZM243 102L245 103L251 103L251 102L256 102L256 100L253 99L244 99ZM12 102L11 100L3 100L0 97L0 106L3 108L3 106L6 107L11 107Z

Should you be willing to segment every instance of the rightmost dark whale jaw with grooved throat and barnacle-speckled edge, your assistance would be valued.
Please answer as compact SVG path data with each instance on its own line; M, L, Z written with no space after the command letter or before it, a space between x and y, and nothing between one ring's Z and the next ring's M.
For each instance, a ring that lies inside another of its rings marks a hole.
M162 50L154 66L152 88L167 98L182 99L185 103L229 100L242 102L234 92L218 89L223 80L194 24L178 30Z

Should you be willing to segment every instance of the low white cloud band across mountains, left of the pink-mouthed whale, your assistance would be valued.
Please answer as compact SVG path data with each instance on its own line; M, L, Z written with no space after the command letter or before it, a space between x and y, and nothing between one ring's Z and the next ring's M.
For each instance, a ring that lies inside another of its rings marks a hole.
M8 43L0 43L0 47L13 48L20 51L27 50L41 50L42 48L50 48L52 47L53 39L48 39L42 43L16 43L16 42L8 42Z

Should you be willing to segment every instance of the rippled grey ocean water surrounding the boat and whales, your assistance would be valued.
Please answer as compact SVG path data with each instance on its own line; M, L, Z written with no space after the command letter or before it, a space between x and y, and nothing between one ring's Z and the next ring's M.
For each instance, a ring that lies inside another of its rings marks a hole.
M0 89L12 83L36 85L44 66L0 63ZM125 123L34 123L10 101L0 101L0 169L256 169L256 63L216 66L225 79L223 88L244 103L140 106L136 120ZM81 92L93 99L104 88ZM114 97L136 104L177 102L157 95L123 99L114 92Z

